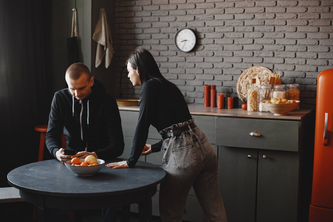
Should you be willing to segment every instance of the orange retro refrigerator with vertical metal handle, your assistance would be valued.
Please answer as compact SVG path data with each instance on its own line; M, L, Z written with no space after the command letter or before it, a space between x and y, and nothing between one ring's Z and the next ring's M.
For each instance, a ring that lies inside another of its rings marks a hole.
M313 181L309 222L333 221L333 69L317 80Z

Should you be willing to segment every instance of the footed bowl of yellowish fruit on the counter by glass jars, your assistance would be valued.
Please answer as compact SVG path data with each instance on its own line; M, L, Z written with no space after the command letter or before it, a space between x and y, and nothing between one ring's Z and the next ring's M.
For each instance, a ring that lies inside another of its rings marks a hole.
M298 105L299 100L287 100L280 98L272 98L270 101L262 102L263 106L274 115L286 115L293 111Z

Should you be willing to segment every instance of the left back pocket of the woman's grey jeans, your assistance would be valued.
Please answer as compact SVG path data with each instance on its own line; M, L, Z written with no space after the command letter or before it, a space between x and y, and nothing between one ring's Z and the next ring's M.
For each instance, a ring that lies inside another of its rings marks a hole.
M194 145L172 148L173 160L179 170L189 170L196 166Z

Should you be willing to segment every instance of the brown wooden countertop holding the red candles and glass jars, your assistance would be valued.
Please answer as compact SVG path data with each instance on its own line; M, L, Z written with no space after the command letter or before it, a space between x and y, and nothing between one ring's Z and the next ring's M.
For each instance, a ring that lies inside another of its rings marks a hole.
M234 116L248 118L268 118L268 119L294 119L300 120L308 115L312 110L298 110L288 112L286 115L274 115L271 112L248 112L242 109L217 109L204 107L203 104L187 104L189 112L193 115L213 115L213 116ZM139 107L119 107L119 110L139 111Z

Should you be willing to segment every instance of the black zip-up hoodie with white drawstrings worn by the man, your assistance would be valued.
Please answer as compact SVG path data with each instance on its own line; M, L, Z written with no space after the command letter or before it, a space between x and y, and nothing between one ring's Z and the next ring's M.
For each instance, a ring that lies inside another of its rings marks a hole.
M100 159L122 155L124 136L116 100L95 79L91 94L78 100L63 89L54 94L45 142L55 157L61 146L61 133L67 148L76 152L96 152Z

